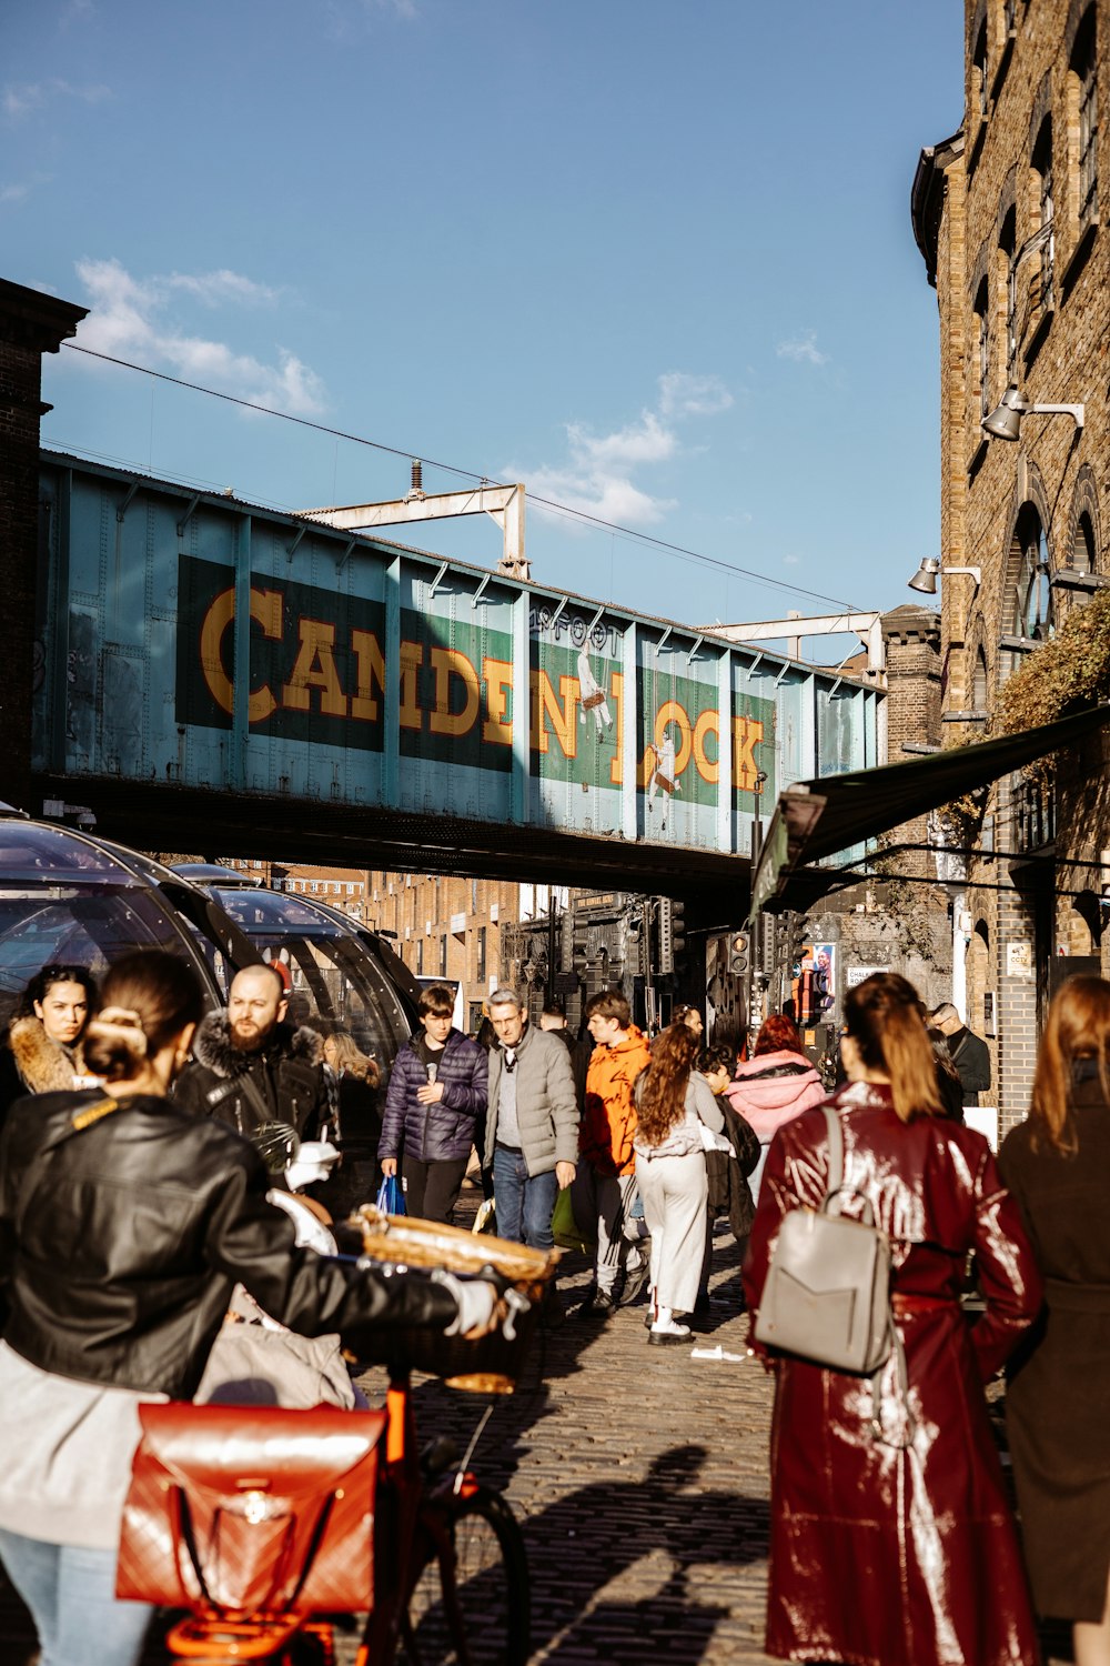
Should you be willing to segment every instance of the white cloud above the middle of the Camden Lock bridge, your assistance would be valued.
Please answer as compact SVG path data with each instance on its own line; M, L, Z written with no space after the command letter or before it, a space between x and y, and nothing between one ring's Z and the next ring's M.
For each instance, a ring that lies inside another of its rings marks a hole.
M567 423L566 463L513 468L506 478L524 480L533 498L551 498L622 526L652 526L676 506L676 500L647 491L634 475L681 455L681 421L716 416L731 405L732 395L719 377L669 372L659 377L654 410L642 410L636 421L611 433L594 433L581 421Z

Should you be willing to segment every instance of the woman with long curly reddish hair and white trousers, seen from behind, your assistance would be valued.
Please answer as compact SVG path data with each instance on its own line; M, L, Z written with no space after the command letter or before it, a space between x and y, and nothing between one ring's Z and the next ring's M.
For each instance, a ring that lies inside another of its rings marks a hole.
M684 1343L691 1334L676 1314L694 1309L706 1253L702 1126L716 1135L724 1128L709 1083L694 1070L699 1048L689 1025L671 1025L636 1083L636 1180L651 1233L647 1341L656 1346Z

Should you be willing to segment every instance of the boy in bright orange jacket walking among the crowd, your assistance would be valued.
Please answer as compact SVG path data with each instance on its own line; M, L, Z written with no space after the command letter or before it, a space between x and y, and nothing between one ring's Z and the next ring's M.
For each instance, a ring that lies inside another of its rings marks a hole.
M597 1221L594 1289L579 1313L607 1319L617 1306L617 1278L624 1273L621 1304L634 1301L647 1283L647 1258L624 1235L636 1195L636 1078L651 1061L644 1035L619 990L602 990L586 1003L594 1051L586 1073L586 1105L579 1128L582 1161L574 1181L574 1213Z

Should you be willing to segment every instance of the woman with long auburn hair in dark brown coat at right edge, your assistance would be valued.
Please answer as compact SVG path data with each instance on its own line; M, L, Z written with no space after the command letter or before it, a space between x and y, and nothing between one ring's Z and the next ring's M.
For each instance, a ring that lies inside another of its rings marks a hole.
M1007 1393L1033 1599L1075 1623L1078 1666L1110 1663L1110 983L1048 1010L1028 1121L1002 1146L1045 1274L1045 1314Z

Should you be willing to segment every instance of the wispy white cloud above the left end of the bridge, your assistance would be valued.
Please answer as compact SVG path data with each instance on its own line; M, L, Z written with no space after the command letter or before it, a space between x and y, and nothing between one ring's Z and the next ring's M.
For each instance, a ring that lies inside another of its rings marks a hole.
M276 363L266 365L226 342L188 335L166 317L181 295L206 307L221 298L270 303L275 292L265 285L235 272L133 278L118 260L82 260L77 273L92 295L90 315L78 328L80 347L138 360L151 370L168 368L186 382L295 416L315 416L325 408L323 382L286 348L278 348Z

